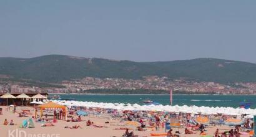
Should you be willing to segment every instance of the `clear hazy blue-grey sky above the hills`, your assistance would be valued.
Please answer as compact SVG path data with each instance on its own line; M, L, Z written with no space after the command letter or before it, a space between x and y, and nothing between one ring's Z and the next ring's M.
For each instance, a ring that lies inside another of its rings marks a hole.
M0 1L0 56L256 63L256 1Z

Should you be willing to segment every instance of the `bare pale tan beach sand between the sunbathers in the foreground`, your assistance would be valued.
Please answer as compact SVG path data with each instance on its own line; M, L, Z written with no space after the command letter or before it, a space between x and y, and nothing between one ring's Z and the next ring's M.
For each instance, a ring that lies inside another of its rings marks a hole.
M31 110L31 113L34 113L34 108L29 106L17 106L16 113L12 113L11 111L7 111L7 106L0 106L2 108L3 115L0 115L0 129L1 129L1 136L10 136L10 132L12 135L16 137L16 131L25 131L27 135L42 135L42 136L61 136L61 137L71 137L71 136L122 136L125 132L125 130L114 130L115 128L132 128L134 131L134 135L139 136L150 136L150 133L164 133L164 129L160 128L159 131L152 131L154 128L148 128L147 131L137 131L135 130L135 127L133 126L119 126L119 120L111 120L109 118L102 118L94 115L89 116L82 116L82 122L67 122L64 120L58 120L57 123L54 123L55 126L51 127L42 127L41 123L37 123L34 120L35 128L19 128L19 125L21 125L22 120L25 120L25 117L18 117L18 113L21 112L21 110ZM31 117L32 115L28 115ZM74 116L76 117L76 116ZM3 122L4 119L7 119L7 121L14 120L14 123L17 125L11 126L7 125L4 126ZM96 128L94 126L86 126L86 121L91 120L94 122L97 126L106 126L104 128ZM106 121L109 121L109 123L105 123ZM74 126L74 125L80 125L82 128L78 129L66 129L65 126ZM228 131L230 128L228 126L209 126L207 127L207 135L214 135L214 131L219 128L220 132ZM173 133L175 131L180 131L180 136L200 136L199 131L195 132L195 134L192 135L185 135L184 134L184 128L173 128ZM15 133L13 133L15 132ZM22 136L19 136L22 137Z

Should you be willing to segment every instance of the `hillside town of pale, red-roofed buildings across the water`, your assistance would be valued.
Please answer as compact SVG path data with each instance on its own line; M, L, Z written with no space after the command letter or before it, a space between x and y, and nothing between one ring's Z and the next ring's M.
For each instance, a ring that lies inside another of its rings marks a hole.
M172 80L167 77L147 76L142 79L132 80L124 78L94 78L86 77L75 80L64 80L56 87L35 87L19 83L1 83L0 93L83 93L87 90L166 90L170 89L191 94L214 93L220 95L240 94L252 95L256 93L256 83L222 84L216 82L200 82L189 78Z

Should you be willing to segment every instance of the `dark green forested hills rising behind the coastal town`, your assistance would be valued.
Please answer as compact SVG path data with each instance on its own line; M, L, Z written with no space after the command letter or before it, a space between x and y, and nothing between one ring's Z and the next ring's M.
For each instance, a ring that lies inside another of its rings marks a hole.
M69 55L44 55L30 59L1 57L0 75L41 82L61 82L84 77L139 79L147 75L158 75L233 83L256 82L256 64L208 58L169 62L132 62Z

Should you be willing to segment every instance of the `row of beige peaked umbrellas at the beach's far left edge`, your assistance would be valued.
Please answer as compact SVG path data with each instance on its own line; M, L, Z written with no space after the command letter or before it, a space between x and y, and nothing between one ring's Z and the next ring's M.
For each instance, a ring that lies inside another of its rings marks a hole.
M15 97L14 95L11 95L10 93L6 93L6 94L2 95L0 98L6 98L7 99L7 105L8 105L8 99L9 98L22 98L22 104L23 104L24 98L34 98L34 99L41 99L42 98L42 99L46 99L46 97L44 97L40 93L38 93L37 95L34 95L33 97L29 97L25 93L22 93L21 95L18 95L17 97ZM37 103L37 104L39 104L39 103Z

